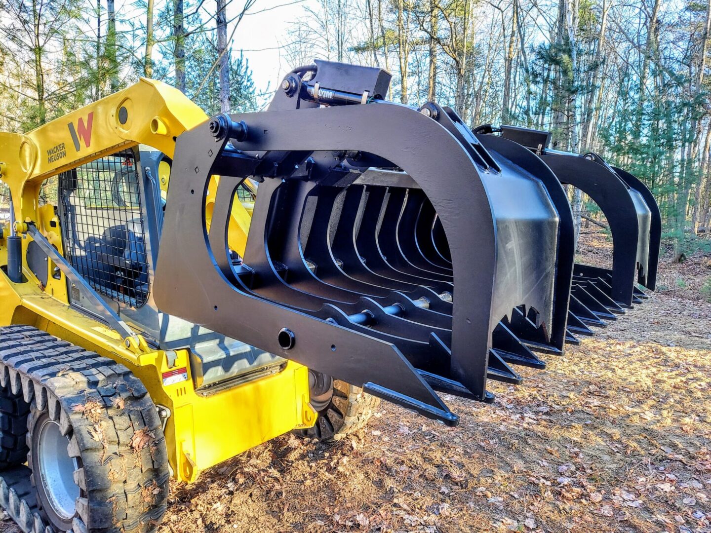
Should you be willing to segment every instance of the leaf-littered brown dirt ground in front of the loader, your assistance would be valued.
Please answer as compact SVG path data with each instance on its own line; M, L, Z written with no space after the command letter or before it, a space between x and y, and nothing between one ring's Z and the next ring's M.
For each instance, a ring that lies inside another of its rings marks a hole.
M161 533L711 532L711 303L661 291L544 358L494 404L445 397L456 428L383 403L352 438L282 436L174 484Z

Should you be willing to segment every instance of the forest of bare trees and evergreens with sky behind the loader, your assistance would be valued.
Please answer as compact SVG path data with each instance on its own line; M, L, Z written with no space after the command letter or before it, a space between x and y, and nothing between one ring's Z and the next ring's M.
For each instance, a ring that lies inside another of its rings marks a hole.
M213 114L263 109L284 72L314 58L379 66L397 102L547 129L555 149L626 168L658 198L673 260L711 252L711 0L267 1L0 0L0 131L141 76ZM277 37L279 61L259 65L272 81L255 81L235 36L258 49L265 29L250 15L284 9L296 17ZM606 225L569 194L577 230Z

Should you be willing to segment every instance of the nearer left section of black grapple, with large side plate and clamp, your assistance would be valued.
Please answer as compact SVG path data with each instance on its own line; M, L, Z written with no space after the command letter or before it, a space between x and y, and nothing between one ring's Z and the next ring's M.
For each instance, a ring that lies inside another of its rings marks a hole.
M154 297L164 313L456 425L437 392L491 402L487 378L518 383L512 365L545 367L531 348L562 352L572 215L535 154L479 141L436 104L385 102L389 83L316 61L284 78L267 112L182 134ZM230 210L247 177L260 186L236 257Z

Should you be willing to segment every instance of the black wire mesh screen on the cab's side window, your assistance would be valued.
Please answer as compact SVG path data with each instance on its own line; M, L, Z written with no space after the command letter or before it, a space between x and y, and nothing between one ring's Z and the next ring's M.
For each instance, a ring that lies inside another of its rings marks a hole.
M96 291L132 307L150 289L139 185L132 151L59 178L65 257Z

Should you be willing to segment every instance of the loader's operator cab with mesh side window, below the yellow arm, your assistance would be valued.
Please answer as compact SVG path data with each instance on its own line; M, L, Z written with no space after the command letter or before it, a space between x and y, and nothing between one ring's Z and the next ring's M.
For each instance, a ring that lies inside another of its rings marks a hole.
M281 357L156 307L151 283L171 164L160 151L141 145L60 174L55 207L65 258L149 343L163 350L189 348L197 389L278 372L285 364ZM242 185L235 198L250 215L255 190L251 183ZM68 284L70 305L101 318L80 288Z

